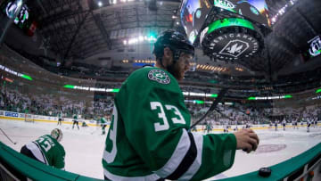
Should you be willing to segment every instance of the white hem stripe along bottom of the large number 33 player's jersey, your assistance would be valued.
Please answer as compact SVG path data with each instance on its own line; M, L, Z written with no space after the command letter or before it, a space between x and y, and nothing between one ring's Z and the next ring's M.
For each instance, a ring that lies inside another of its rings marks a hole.
M105 177L108 177L108 179L117 181L155 181L160 178L156 174L151 174L143 177L122 177L111 174L111 172L107 171L107 169L103 169L103 174Z

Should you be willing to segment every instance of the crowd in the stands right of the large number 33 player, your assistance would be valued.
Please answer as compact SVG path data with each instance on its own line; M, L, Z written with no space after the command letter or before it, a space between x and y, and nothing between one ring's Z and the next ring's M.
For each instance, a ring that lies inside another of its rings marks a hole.
M210 109L207 103L186 103L191 112L192 120L200 119L206 111ZM240 103L232 105L218 104L216 111L212 111L202 124L210 122L212 125L245 125L245 124L268 124L270 121L282 121L288 123L293 120L321 119L321 106L309 105L299 108L293 107L274 107L257 108L246 106Z

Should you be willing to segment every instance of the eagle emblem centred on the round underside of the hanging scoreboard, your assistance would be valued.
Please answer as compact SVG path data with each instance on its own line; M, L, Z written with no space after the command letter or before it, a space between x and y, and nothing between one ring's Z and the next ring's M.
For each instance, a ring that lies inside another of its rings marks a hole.
M247 49L249 49L249 47L249 43L236 39L228 42L228 44L219 53L237 58Z

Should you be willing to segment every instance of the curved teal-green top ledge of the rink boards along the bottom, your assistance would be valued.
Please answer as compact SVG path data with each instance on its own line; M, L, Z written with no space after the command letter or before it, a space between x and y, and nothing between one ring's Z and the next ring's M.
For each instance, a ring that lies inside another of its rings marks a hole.
M244 165L246 167L246 165ZM238 180L320 180L321 177L321 143L312 147L306 152L271 166L269 177L260 177L259 171L254 171L237 177L229 177L220 181ZM102 173L103 174L103 173ZM0 178L1 180L25 180L28 177L32 180L77 180L77 181L98 181L100 179L84 177L60 169L46 166L37 160L22 155L12 150L9 146L0 142ZM314 178L313 178L314 177Z

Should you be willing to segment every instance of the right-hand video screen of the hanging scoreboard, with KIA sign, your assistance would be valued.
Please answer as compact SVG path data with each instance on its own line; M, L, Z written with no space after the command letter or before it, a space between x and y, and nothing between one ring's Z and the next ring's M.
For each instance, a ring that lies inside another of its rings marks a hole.
M216 7L241 14L267 27L271 26L271 21L268 18L268 5L265 0L213 0L213 3Z

